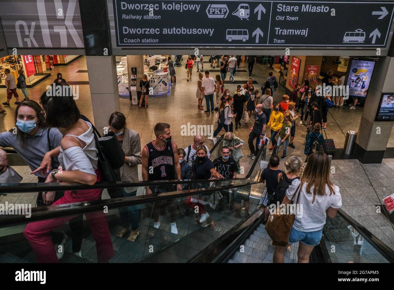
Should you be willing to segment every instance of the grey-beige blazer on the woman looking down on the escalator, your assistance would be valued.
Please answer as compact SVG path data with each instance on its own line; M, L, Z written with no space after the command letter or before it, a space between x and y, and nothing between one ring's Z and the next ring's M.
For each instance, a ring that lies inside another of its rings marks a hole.
M108 132L109 129L109 127L104 127L103 132ZM125 161L123 166L119 168L121 180L129 182L138 181L138 164L141 164L141 140L139 133L125 128L123 131L122 149L128 157L128 163ZM138 187L125 187L127 193L137 189Z

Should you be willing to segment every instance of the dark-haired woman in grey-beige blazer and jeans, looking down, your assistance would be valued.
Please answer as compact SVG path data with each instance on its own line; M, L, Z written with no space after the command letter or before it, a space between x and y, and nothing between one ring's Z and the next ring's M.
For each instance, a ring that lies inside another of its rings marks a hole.
M139 133L126 127L126 117L120 112L113 112L108 121L109 127L104 127L103 133L113 131L125 152L125 163L123 167L115 169L114 172L121 181L138 181L138 164L141 164L141 140ZM122 189L123 196L136 196L137 187L126 187ZM129 233L128 240L136 241L139 235L139 214L137 206L119 208L119 215L123 228L116 234L123 238Z

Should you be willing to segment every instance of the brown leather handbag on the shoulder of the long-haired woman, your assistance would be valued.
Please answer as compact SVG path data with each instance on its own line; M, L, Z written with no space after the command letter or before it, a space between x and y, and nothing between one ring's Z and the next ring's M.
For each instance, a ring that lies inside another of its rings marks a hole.
M296 193L294 193L294 195L292 196L290 204L296 196L297 190ZM298 204L300 194L301 187L299 189L296 204ZM266 231L269 237L272 239L273 245L285 247L289 242L290 231L292 230L294 219L296 218L296 213L286 214L286 211L284 213L280 213L280 211L281 207L276 208L275 211L273 211L273 213L269 215L268 221L266 223Z

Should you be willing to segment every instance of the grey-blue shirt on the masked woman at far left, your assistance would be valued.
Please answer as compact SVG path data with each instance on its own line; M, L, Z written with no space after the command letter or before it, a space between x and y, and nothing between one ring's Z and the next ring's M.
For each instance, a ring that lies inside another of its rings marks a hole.
M13 148L33 171L40 167L41 161L43 161L45 153L49 151L47 132L48 128L40 127L37 133L32 137L25 134L26 142L23 148L20 145L17 134L13 134L9 131L3 132L0 133L0 146ZM63 135L60 133L58 128L50 129L49 140L52 149L60 146L61 138L63 138ZM59 166L59 161L56 157L54 161L55 165ZM36 172L35 175L39 177L45 177L41 176L40 171Z

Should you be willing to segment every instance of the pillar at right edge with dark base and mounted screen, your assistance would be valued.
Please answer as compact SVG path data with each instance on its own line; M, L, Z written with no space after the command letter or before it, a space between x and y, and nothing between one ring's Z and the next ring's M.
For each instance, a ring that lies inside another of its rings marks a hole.
M375 121L382 92L394 92L394 58L380 57L375 64L353 155L361 163L381 163L394 122Z

